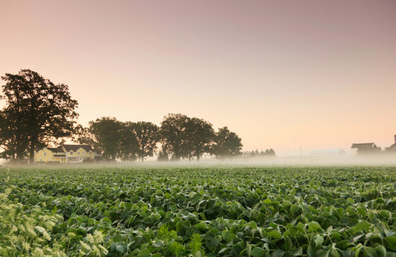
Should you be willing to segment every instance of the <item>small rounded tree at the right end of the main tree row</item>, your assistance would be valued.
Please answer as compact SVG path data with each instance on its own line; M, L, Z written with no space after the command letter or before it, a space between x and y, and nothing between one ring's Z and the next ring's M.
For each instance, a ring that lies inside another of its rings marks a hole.
M242 139L235 133L231 132L227 127L219 129L216 133L216 144L214 147L214 154L217 158L231 160L241 154Z

